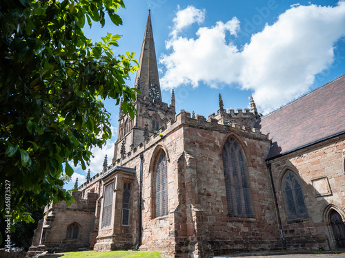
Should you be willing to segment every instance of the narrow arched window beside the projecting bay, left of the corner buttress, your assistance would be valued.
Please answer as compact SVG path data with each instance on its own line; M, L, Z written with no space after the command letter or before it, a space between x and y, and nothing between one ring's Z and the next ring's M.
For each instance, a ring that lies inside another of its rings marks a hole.
M161 151L155 168L155 217L168 215L168 175L166 153Z

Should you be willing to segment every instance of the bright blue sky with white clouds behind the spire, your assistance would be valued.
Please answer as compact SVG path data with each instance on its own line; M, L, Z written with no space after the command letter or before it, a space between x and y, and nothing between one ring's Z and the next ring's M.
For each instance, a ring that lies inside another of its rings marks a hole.
M115 54L136 52L150 7L162 100L170 104L175 89L176 112L181 109L208 117L217 113L220 93L225 109L245 109L253 96L260 113L286 105L345 71L345 1L319 0L124 0L119 27L84 28L101 41L107 32L120 34ZM87 25L86 25L87 26ZM127 81L134 86L135 74ZM345 102L345 100L344 100ZM119 107L105 100L112 138L103 149L92 149L91 177L108 164L117 140ZM75 168L79 185L86 171Z

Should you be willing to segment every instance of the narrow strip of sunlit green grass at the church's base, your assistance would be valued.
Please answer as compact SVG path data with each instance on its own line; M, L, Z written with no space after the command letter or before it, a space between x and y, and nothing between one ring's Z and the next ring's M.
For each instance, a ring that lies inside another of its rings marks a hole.
M81 252L63 252L63 257L66 258L161 258L159 252L146 252L146 251L114 251L114 252L93 252L93 251L81 251Z

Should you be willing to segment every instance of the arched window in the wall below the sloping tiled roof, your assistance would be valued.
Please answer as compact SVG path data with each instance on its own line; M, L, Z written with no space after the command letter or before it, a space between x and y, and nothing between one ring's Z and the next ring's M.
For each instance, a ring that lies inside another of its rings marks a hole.
M308 217L302 186L297 176L290 170L286 171L282 180L282 195L288 219Z

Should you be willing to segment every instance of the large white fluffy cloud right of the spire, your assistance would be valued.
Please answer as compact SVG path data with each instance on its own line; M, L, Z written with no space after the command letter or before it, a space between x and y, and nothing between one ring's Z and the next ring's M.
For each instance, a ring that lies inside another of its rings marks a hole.
M241 50L233 43L240 28L236 17L199 28L196 39L179 36L196 21L195 13L203 12L188 8L177 12L176 26L166 42L171 53L160 58L165 70L161 87L197 87L200 82L211 87L237 84L253 91L263 112L308 92L315 75L333 63L335 43L345 36L344 1L335 7L291 6L273 25L266 24L262 32L253 34ZM187 14L190 20L179 21ZM230 39L226 39L226 32L232 35Z

